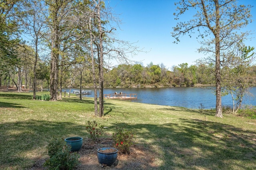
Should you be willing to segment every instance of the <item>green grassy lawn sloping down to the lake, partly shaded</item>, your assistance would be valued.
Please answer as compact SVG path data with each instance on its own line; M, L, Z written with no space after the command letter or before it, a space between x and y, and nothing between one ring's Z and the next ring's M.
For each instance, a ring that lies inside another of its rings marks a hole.
M256 169L256 120L214 111L106 99L94 117L93 98L32 100L32 93L0 92L0 169L26 169L47 156L53 137L88 137L86 124L136 131L136 145L154 155L152 169Z

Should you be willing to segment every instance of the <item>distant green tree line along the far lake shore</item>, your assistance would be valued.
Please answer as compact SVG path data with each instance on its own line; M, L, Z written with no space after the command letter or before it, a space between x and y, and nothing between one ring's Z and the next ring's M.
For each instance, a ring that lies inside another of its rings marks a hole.
M21 78L22 88L33 88L32 63L24 63L22 66ZM30 64L30 65L29 65ZM250 77L248 84L256 84L256 65L249 65L244 77ZM104 68L104 87L122 88L145 88L145 87L193 87L193 86L214 86L214 64L178 64L178 66L166 67L164 64L150 63L147 66L142 64L120 64L112 69ZM227 68L223 68L223 77L228 77ZM231 70L229 70L231 71ZM225 75L224 75L225 72ZM69 91L69 88L92 88L92 71L88 67L81 74L77 66L70 66L62 73L62 88ZM50 66L43 61L38 62L36 68L36 88L38 90L48 89L50 81ZM82 78L81 78L82 77ZM6 74L0 77L0 86L15 86L18 81L17 72ZM12 81L13 80L13 81ZM97 82L98 84L98 82ZM235 82L233 81L233 84Z

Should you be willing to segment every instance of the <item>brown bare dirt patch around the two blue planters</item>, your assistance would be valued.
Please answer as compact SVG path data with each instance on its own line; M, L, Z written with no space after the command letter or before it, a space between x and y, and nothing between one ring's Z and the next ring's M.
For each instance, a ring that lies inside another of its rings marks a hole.
M80 165L76 170L144 170L154 167L154 156L144 147L133 145L130 155L123 155L118 152L118 157L114 165L106 166L98 162L97 150L102 147L112 147L112 139L106 138L95 143L90 139L83 139L82 148L78 151L80 154ZM43 167L45 159L37 160L30 170L46 170Z

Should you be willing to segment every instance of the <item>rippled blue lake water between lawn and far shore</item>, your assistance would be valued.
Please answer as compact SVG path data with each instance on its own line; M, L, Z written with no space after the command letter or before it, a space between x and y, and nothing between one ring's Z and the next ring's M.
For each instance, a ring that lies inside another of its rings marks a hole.
M66 89L68 92L69 89ZM78 88L72 88L79 90ZM92 88L83 88L83 90L92 90L91 95L94 97ZM64 91L64 90L63 90ZM187 108L196 108L202 106L205 109L216 107L216 96L214 95L214 87L179 87L179 88L104 88L104 94L114 92L123 92L126 94L138 94L138 100L131 102L140 102L146 104L156 104L162 106L180 106ZM250 88L252 94L256 94L256 87ZM243 104L256 106L255 96L245 96ZM223 106L232 106L232 98L230 95L222 97Z

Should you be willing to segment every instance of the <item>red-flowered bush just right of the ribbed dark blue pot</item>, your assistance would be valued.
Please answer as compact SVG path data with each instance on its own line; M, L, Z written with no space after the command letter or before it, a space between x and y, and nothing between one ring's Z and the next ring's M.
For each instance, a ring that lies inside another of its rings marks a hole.
M134 135L134 131L124 128L117 129L117 132L112 135L114 147L122 154L130 154L130 147L133 145Z

